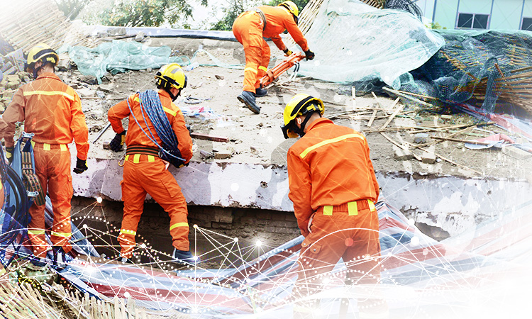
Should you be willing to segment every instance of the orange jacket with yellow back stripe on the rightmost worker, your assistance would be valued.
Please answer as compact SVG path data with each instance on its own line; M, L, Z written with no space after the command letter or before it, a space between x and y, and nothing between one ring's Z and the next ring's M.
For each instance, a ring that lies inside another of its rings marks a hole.
M294 169L294 174L289 174L291 197L298 196L299 179L309 175L314 211L360 199L376 202L379 196L365 137L326 118L311 123L306 134L290 147L288 167Z

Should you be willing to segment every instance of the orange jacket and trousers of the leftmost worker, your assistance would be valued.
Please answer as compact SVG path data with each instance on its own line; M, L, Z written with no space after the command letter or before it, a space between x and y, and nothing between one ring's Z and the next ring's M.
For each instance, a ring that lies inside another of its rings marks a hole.
M34 133L33 154L35 173L43 191L52 201L53 225L50 233L52 245L62 246L70 252L70 201L72 175L70 151L67 144L76 142L77 157L87 159L89 130L82 112L82 103L76 91L61 82L53 73L44 73L35 81L21 86L6 108L0 121L0 138L6 147L13 147L15 123L24 121L24 130ZM28 234L37 257L45 257L45 204L33 204Z

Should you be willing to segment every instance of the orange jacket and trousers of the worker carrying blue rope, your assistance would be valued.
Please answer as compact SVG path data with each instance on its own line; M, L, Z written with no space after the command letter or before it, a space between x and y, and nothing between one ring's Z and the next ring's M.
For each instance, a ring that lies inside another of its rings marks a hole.
M170 95L164 91L159 91L162 107L170 120L172 129L179 142L178 148L181 157L188 163L192 158L192 138L184 123L183 113L172 102ZM155 135L155 140L161 145L162 141L155 132L155 127L150 119L140 111L139 95L129 96L128 101L131 109L140 123L143 130L148 133L148 128ZM126 134L126 160L123 167L122 200L123 219L118 242L121 245L121 256L131 258L135 248L135 235L137 234L138 222L143 213L146 194L157 201L162 208L170 215L170 235L172 235L172 245L177 250L189 250L189 223L187 220L187 201L181 192L181 188L174 179L172 173L168 172L165 162L157 155L150 155L147 152L136 152L140 147L151 147L155 153L158 152L156 145L143 133L135 119L131 115L127 101L121 101L111 107L108 112L109 122L116 133L124 131L122 118L129 116L128 133ZM149 134L149 133L148 133Z

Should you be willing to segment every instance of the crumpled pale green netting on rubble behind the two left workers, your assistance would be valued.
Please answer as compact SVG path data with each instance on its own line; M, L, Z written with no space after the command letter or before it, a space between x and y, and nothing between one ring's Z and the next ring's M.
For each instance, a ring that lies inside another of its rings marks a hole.
M95 48L63 45L59 52L68 52L79 72L94 75L99 83L106 72L116 74L125 72L126 69L157 69L168 63L190 64L186 56L170 57L170 47L148 47L137 42L121 40L103 43Z

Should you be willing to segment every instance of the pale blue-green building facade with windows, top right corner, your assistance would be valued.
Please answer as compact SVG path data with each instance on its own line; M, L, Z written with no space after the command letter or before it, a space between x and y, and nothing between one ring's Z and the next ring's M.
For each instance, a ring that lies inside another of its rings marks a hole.
M423 16L448 29L532 31L532 0L418 0Z

